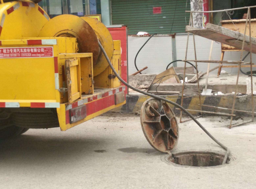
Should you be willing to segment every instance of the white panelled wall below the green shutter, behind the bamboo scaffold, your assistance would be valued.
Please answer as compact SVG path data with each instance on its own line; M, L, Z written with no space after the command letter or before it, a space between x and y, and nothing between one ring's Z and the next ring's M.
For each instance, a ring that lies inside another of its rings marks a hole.
M187 34L176 35L176 54L177 60L184 60L186 54L186 41ZM134 66L135 56L141 46L148 40L148 37L128 37L128 63L129 63L129 74L133 74L137 70ZM204 37L195 36L195 45L196 53L198 60L208 60L209 52L211 47L211 40L208 40ZM225 52L224 60L240 60L241 52ZM247 52L244 52L244 55ZM243 55L243 56L244 56ZM214 42L212 49L212 59L211 60L220 60L221 58L221 44ZM189 46L188 46L188 55L187 60L195 60L194 54L194 45L193 45L193 36L189 35ZM250 61L250 56L245 59L246 62ZM172 62L172 37L170 36L160 36L152 37L151 40L145 45L145 47L140 52L137 57L137 67L139 69L148 66L148 69L145 70L144 74L159 74L166 69L166 66ZM192 62L193 63L193 62ZM256 54L253 54L253 63L256 63ZM193 63L195 64L195 63ZM226 64L225 64L226 65ZM230 65L230 64L228 64ZM177 62L178 67L183 67L183 62ZM218 63L211 63L210 68L218 66ZM207 63L198 63L198 70L207 72ZM224 68L228 73L237 74L237 68ZM245 72L250 71L249 68L243 69ZM256 69L253 69L256 70ZM216 69L212 73L217 73Z

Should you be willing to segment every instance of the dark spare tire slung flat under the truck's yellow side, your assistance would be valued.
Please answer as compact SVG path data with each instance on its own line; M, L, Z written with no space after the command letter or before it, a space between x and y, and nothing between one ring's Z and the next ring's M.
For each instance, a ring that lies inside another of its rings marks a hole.
M53 113L13 113L15 126L28 129L48 129L59 127L58 116Z

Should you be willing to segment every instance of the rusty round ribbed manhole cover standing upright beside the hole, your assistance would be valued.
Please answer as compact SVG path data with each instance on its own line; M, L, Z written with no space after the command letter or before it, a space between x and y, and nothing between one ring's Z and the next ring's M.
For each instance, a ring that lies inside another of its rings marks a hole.
M160 152L172 150L179 139L175 114L166 102L150 98L141 108L140 123L151 146Z

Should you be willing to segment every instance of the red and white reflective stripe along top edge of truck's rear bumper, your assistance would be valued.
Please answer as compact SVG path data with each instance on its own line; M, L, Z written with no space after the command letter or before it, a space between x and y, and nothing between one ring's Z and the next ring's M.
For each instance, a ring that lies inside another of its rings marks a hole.
M66 111L67 110L70 110L70 109L73 109L73 108L76 108L77 106L81 106L83 104L86 104L86 103L89 103L93 100L99 100L99 99L102 99L104 97L109 97L115 93L118 93L118 92L122 92L122 91L125 91L125 86L123 87L120 87L119 89L114 89L112 91L108 91L108 92L105 92L105 93L102 93L102 94L97 94L97 95L94 95L92 97L88 97L88 98L85 98L83 100L79 100L73 104L70 104L70 105L67 105L66 106Z

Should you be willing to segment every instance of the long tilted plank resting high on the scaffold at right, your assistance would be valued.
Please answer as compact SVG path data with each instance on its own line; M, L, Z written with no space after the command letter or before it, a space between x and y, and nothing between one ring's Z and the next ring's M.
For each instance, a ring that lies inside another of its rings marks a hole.
M216 26L210 23L207 23L206 29L196 29L191 26L186 26L186 32L196 34L210 40L218 41L219 43L224 43L238 49L242 48L244 34L221 26ZM252 37L251 42L252 53L256 54L256 38ZM250 51L250 37L247 35L245 36L244 50L248 52Z

